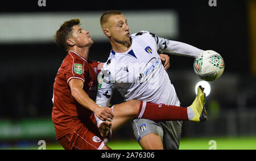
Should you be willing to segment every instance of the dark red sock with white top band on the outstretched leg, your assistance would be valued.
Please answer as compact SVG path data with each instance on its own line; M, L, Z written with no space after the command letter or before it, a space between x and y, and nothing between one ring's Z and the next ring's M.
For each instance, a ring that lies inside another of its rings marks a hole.
M154 121L188 120L188 112L187 107L141 101L137 118L147 118Z

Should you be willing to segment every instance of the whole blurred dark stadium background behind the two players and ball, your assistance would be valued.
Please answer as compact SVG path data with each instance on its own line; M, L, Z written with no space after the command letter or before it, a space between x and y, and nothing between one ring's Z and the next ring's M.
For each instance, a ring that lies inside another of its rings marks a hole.
M256 1L208 0L100 2L46 0L1 2L0 10L0 149L60 149L51 122L52 85L65 52L53 40L65 21L80 18L94 44L89 58L104 62L110 44L100 28L107 10L122 11L131 33L148 30L167 39L212 49L225 60L221 78L209 82L209 121L184 122L180 149L256 149ZM15 4L13 4L15 3ZM195 98L193 59L171 56L168 69L181 106ZM122 98L114 93L112 104ZM139 149L128 122L113 141L114 149Z

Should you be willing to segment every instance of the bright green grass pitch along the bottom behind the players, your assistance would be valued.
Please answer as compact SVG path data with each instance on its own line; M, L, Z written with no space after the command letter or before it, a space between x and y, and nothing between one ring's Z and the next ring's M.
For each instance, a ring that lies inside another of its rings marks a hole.
M256 150L256 137L238 137L238 138L183 138L180 141L180 150L190 150L190 149L202 149L207 150L212 145L209 145L209 141L216 141L216 149L229 149L229 150L243 150L243 149L254 149ZM133 141L109 141L108 145L114 150L139 150L138 142ZM39 146L35 147L13 147L10 149L38 149ZM59 143L46 144L47 150L63 149Z

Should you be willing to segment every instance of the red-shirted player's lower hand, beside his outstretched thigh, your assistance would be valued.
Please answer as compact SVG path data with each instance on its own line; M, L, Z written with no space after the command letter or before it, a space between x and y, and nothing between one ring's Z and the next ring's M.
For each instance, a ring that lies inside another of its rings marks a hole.
M95 115L100 118L102 121L112 121L114 114L112 112L112 109L109 107L101 107L98 106L97 108L94 108Z

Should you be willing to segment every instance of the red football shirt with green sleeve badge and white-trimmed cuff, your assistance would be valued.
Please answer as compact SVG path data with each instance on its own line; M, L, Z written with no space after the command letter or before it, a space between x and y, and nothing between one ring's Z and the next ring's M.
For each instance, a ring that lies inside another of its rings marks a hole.
M87 61L76 52L69 52L64 58L53 84L52 121L57 139L88 124L86 122L94 122L93 112L77 103L71 95L68 82L71 79L81 79L84 81L84 91L95 100L98 63Z

